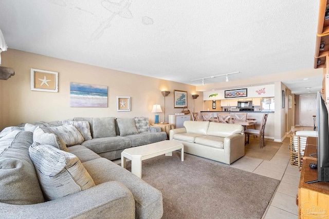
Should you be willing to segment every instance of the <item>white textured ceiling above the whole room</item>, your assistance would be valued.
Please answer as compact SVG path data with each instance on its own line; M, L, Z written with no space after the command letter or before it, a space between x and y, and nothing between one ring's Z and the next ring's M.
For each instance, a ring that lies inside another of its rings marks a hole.
M2 0L0 29L12 49L191 85L309 69L306 85L282 78L303 94L322 85L318 10L309 0Z

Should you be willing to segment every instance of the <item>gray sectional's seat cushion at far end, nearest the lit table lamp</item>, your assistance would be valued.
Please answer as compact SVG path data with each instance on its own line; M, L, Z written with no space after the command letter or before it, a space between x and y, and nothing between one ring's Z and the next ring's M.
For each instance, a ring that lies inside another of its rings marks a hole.
M126 135L132 141L132 147L147 145L155 142L160 142L167 139L166 132L154 132L154 133L140 133L133 135Z

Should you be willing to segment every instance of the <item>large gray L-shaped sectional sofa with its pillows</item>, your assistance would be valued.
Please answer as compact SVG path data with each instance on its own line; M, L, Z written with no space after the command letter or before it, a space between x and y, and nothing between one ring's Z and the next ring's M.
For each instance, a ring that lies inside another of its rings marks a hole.
M118 118L5 128L0 132L0 218L161 218L161 192L106 159L127 147L166 140L166 132L151 132L141 120L144 125L137 121L135 128L131 119Z

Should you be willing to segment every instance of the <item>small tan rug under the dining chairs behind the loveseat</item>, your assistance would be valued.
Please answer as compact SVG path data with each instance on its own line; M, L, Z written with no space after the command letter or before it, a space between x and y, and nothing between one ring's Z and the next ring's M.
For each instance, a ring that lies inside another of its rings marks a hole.
M265 141L265 147L259 147L259 138L250 136L249 144L245 145L245 156L270 161L281 147L282 142Z

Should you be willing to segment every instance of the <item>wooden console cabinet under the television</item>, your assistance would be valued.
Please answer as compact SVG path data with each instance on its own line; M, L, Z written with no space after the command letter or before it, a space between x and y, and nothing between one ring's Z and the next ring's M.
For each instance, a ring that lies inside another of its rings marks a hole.
M316 152L316 145L308 144L305 148L303 165L298 187L298 217L299 218L329 218L329 182L311 183L317 180L318 172L310 169L310 163L316 163L314 157L309 156Z

